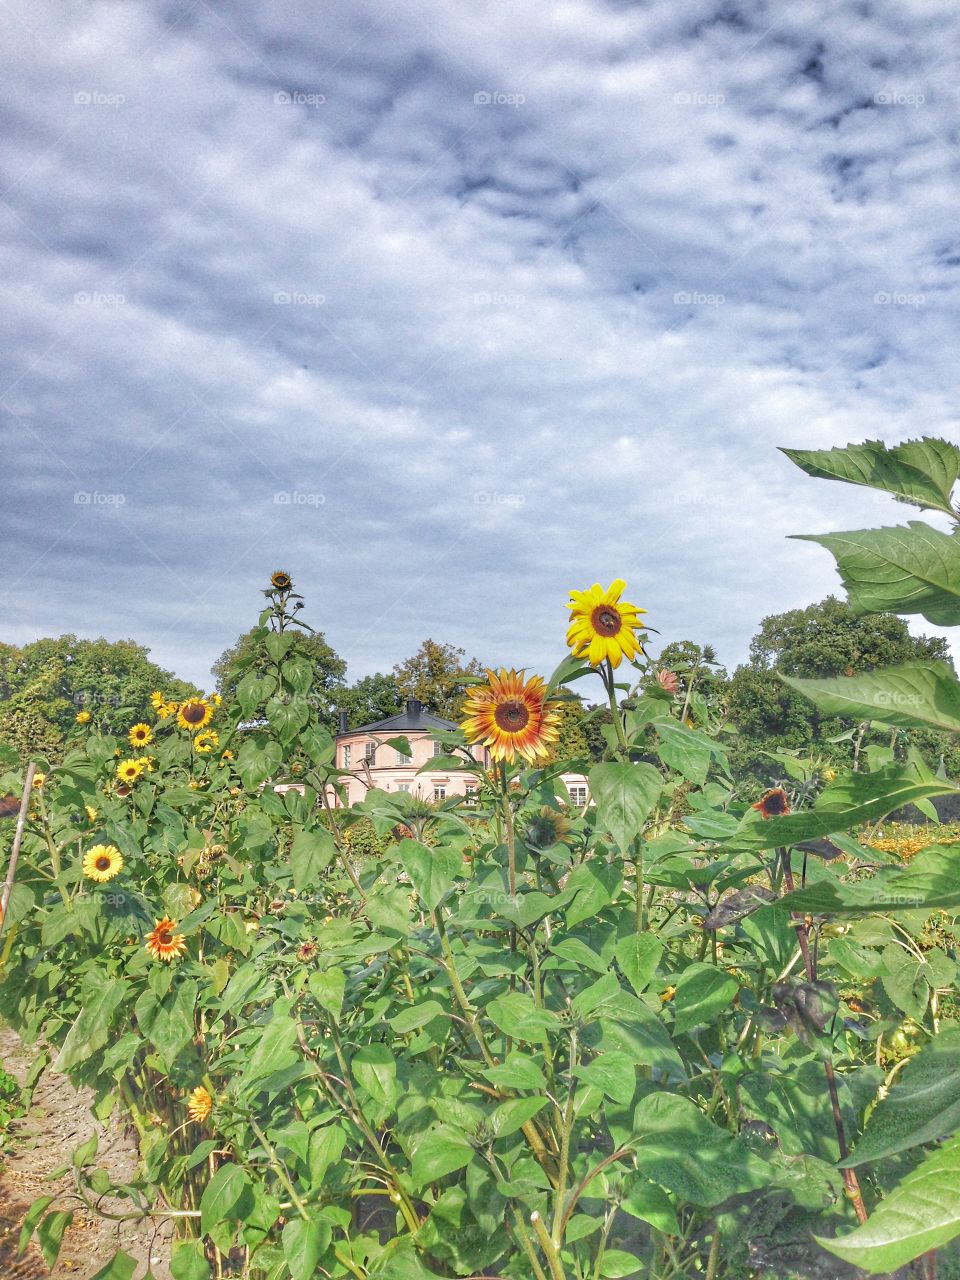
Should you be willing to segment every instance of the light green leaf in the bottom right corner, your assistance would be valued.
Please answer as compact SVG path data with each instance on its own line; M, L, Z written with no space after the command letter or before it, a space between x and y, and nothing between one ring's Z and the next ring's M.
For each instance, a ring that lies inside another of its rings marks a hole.
M960 1137L940 1151L882 1199L863 1226L819 1244L870 1275L895 1271L922 1253L960 1235Z

